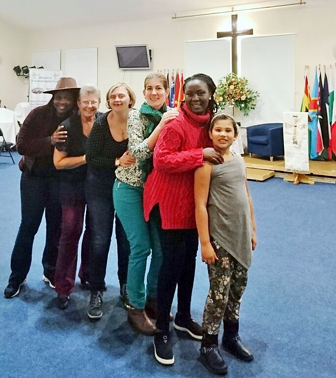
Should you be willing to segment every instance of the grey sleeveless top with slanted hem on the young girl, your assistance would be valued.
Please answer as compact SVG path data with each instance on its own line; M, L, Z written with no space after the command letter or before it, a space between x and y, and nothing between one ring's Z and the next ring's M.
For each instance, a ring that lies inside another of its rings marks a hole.
M211 237L246 269L252 259L252 221L246 191L243 159L233 159L212 167L209 198Z

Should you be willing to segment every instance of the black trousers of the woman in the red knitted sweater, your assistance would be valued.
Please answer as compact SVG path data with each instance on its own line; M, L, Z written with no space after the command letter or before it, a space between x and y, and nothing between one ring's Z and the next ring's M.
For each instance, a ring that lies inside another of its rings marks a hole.
M158 218L158 206L151 216ZM182 318L190 317L194 287L198 234L196 229L163 230L159 227L162 265L158 279L158 329L169 331L169 313L177 286L177 311Z

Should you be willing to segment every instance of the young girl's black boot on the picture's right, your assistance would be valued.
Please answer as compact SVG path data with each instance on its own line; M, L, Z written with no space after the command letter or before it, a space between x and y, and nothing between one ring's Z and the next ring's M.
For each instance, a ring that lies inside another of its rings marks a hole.
M243 361L252 361L253 353L240 340L239 322L224 320L224 334L222 345L225 350Z

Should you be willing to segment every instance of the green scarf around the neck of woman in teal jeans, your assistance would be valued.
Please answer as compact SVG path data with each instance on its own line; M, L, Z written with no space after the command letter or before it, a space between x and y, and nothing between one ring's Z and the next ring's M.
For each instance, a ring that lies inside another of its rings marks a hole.
M148 105L146 102L144 102L141 105L140 113L143 114L149 121L145 130L145 139L148 138L152 134L155 127L160 123L161 118L165 112L167 112L166 104L163 104L160 110L154 109L152 106ZM139 163L139 166L142 170L143 181L145 181L147 178L147 175L150 174L150 172L153 169L153 155L149 157L148 159L141 160Z

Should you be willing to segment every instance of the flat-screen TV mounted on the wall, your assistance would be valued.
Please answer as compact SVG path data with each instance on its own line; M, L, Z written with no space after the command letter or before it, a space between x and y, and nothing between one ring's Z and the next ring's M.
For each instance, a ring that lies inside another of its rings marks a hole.
M147 45L115 46L118 67L121 70L151 70L151 56Z

